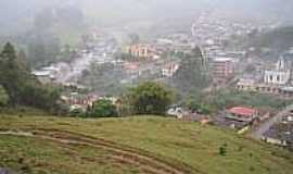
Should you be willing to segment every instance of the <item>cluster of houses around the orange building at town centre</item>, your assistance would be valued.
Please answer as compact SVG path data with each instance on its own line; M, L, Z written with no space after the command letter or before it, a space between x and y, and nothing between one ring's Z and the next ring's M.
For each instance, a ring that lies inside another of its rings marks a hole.
M191 52L192 45L183 42L188 35L174 34L166 38L156 39L152 44L136 44L126 47L125 52L130 57L139 58L141 61L124 62L123 70L130 80L141 76L150 79L162 79L173 77L179 70L179 61L165 58L166 52ZM124 79L124 82L129 82Z

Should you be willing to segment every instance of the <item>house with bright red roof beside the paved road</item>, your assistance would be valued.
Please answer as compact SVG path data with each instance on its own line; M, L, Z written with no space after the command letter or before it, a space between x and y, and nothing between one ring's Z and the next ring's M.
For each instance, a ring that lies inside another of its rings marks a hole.
M258 117L258 111L253 108L234 107L227 110L226 119L239 122L252 122Z

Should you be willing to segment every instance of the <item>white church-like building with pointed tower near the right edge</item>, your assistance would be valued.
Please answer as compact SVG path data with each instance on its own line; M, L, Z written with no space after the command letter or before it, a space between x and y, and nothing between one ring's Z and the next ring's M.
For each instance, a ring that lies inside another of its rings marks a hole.
M289 83L290 76L290 70L288 70L285 61L281 58L276 64L276 70L265 71L264 80L266 84L285 85Z

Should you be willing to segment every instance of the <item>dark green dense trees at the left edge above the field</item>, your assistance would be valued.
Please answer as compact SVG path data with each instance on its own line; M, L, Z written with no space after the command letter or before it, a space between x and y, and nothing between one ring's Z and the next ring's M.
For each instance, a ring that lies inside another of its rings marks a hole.
M9 96L10 105L30 105L48 111L58 108L60 92L42 86L20 58L11 44L0 54L0 85Z

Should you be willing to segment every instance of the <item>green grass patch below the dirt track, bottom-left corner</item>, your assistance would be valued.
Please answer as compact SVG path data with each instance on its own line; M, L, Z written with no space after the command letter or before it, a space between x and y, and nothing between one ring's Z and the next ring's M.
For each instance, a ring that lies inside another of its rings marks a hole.
M2 136L0 140L0 164L24 173L125 173L127 167L117 167L111 163L85 160L90 156L101 156L102 150L93 151L90 148L60 146L55 142L41 141L31 138ZM120 171L123 170L123 171Z

